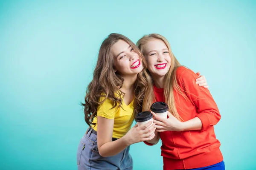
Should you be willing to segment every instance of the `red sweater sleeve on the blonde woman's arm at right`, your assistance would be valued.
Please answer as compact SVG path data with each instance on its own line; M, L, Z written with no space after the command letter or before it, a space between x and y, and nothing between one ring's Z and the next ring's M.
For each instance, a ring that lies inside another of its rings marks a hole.
M185 67L179 67L176 75L178 82L182 84L185 90L186 96L197 108L197 117L202 122L201 131L216 125L221 119L221 115L209 90L195 84L198 76L192 70Z

